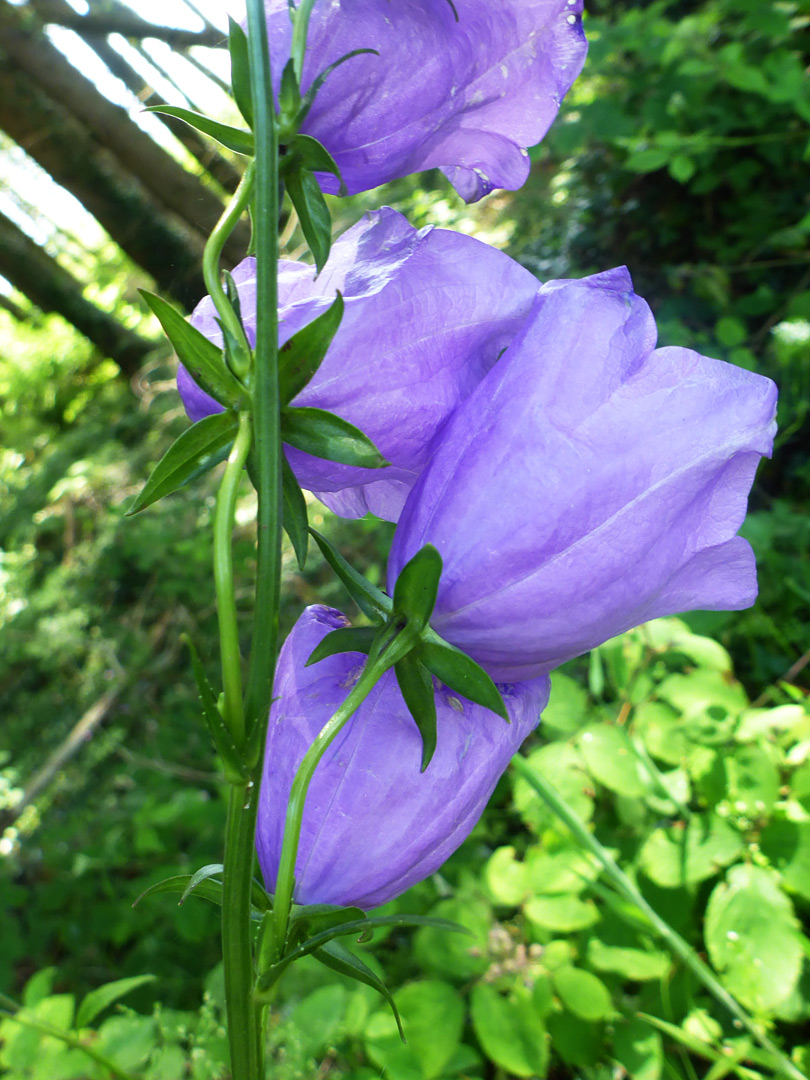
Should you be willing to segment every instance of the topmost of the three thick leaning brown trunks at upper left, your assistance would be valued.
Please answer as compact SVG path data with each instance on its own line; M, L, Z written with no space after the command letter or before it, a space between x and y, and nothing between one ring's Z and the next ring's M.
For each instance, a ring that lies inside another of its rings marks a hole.
M222 212L219 199L133 123L124 109L100 94L44 37L31 11L0 0L0 48L19 71L85 125L153 199L204 241ZM228 240L226 260L239 261L248 243L249 231L242 222Z

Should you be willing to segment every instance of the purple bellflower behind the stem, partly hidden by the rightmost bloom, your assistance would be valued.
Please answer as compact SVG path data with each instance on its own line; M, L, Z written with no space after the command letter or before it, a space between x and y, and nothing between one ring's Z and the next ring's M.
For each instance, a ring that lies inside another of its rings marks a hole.
M255 259L241 262L233 279L253 345ZM336 291L346 303L326 359L293 404L336 413L391 462L360 469L287 448L301 486L346 517L370 510L396 521L431 440L515 336L538 287L502 252L445 229L414 229L389 208L345 232L318 276L307 264L282 261L280 343L325 311ZM210 297L191 323L221 345ZM177 387L192 420L220 410L183 367Z

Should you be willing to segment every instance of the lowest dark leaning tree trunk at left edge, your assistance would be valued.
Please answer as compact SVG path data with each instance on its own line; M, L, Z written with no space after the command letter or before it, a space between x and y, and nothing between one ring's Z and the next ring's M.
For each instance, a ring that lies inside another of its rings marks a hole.
M42 311L67 319L127 376L137 372L154 348L85 300L81 283L2 214L0 274Z

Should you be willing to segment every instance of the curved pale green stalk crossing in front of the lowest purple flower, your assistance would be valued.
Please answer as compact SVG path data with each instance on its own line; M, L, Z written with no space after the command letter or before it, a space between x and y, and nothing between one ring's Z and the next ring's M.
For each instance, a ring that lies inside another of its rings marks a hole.
M284 955L289 908L293 903L293 888L295 886L298 840L301 835L303 805L310 781L318 767L318 762L323 757L329 744L354 715L390 666L390 661L387 662L384 658L369 659L360 678L346 698L346 701L337 710L332 719L324 725L315 741L303 755L301 764L298 766L298 771L293 779L293 786L291 787L289 800L287 802L287 815L284 822L284 839L281 847L281 858L279 859L279 875L273 900L272 940L274 956L272 959L274 962L281 960Z

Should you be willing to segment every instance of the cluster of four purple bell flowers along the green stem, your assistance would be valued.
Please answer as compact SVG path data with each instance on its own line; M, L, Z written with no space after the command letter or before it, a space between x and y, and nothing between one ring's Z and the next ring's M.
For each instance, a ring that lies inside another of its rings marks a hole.
M517 187L525 147L582 64L580 6L316 3L302 89L352 50L375 53L329 76L302 130L349 191L431 166L465 199ZM278 73L287 0L268 0L267 14ZM233 276L251 338L254 261ZM397 523L391 594L424 544L438 551L432 629L499 684L511 719L436 683L436 751L421 775L420 733L389 672L328 748L305 810L296 899L373 906L469 834L539 719L550 671L645 620L753 603L753 553L738 530L771 449L775 388L657 348L623 268L541 285L502 253L417 231L391 210L349 229L318 275L282 262L279 289L282 343L342 294L342 323L294 404L351 422L388 462L360 469L291 447L299 483L338 514ZM210 299L192 323L221 342ZM179 388L191 419L220 408L184 370ZM292 778L364 657L307 661L347 624L309 608L281 653L257 834L270 889Z

